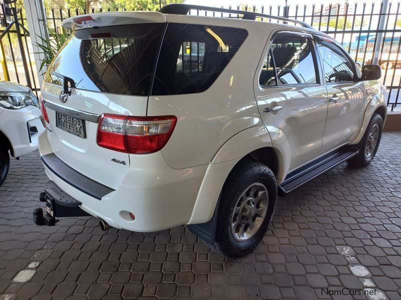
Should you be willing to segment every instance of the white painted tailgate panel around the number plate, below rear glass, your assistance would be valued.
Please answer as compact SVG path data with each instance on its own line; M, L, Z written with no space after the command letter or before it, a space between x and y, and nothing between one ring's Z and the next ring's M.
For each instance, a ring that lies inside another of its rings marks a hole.
M73 88L65 103L59 100L61 86L45 82L42 90L44 99L50 103L86 111L93 114L115 113L125 115L146 115L146 97L101 92ZM56 126L56 112L47 108L50 130L47 135L52 151L72 168L103 185L116 189L129 170L127 153L110 151L99 147L96 143L97 123L85 121L87 138L81 138ZM96 155L94 155L96 153ZM112 161L116 158L125 161L120 164Z

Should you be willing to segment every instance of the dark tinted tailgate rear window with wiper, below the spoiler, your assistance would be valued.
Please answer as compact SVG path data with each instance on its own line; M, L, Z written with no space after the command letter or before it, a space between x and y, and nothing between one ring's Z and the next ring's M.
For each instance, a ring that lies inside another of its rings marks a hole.
M72 34L52 62L45 81L76 88L148 95L164 23L104 26ZM55 74L57 73L57 74Z

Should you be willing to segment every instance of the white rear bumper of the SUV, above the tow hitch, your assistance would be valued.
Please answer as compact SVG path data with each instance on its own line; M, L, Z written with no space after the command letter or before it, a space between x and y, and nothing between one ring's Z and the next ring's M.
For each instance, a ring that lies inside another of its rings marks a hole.
M54 160L52 164L44 164L49 178L65 193L79 200L82 210L102 218L113 227L139 232L158 231L187 223L207 169L207 165L173 169L161 151L136 155L140 159L135 159L135 165L130 166L118 188L110 189L99 199L94 194L90 195L91 191L98 192L96 188L84 190L75 184L82 178L79 179L79 175L78 179L73 178L75 170L52 153L46 134L40 136L39 148L42 159L46 161L52 157ZM60 167L52 167L55 164ZM135 215L135 220L131 219L129 212Z

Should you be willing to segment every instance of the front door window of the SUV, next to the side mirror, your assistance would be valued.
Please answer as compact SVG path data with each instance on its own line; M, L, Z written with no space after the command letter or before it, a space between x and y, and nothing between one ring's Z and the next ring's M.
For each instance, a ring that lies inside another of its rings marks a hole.
M336 44L327 40L317 40L327 82L352 81L354 73L351 62Z

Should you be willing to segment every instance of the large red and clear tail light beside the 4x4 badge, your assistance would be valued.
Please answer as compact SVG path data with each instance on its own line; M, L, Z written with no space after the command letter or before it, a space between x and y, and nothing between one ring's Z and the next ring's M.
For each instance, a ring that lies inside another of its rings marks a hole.
M177 117L103 114L97 129L97 144L125 153L148 154L160 150L174 130Z

